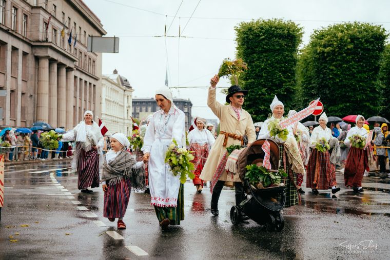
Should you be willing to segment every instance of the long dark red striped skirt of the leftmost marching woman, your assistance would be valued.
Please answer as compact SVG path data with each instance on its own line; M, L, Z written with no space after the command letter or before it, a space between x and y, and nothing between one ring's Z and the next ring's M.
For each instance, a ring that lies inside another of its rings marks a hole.
M79 149L79 159L77 160L79 181L77 182L77 188L84 190L88 187L99 187L99 153L95 149L86 152L81 146L82 144L77 142L76 149Z

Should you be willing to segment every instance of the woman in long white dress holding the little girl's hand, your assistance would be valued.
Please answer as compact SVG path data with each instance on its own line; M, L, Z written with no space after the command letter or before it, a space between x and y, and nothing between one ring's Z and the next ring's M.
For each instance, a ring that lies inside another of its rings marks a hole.
M156 91L155 100L161 110L155 112L146 130L142 151L148 161L151 205L160 225L180 225L184 220L184 188L180 175L174 176L165 155L175 139L185 146L185 114L173 104L172 92L164 87Z

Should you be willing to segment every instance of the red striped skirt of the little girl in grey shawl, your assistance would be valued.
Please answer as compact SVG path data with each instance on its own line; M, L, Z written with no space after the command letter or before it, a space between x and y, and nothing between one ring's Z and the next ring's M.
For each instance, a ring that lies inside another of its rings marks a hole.
M130 198L130 179L123 178L121 182L108 185L104 193L104 217L123 217L126 213L127 205Z

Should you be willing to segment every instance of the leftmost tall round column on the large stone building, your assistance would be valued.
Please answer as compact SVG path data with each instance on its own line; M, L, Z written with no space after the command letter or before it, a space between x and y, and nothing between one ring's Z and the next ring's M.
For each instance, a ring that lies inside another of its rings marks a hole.
M38 60L38 91L36 101L36 120L49 120L49 58L40 57Z

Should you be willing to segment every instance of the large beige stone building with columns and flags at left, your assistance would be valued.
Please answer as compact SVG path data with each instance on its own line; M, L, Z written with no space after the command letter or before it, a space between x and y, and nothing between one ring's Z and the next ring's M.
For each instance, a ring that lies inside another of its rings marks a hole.
M0 125L70 129L100 114L102 54L87 36L105 34L82 0L0 0Z

